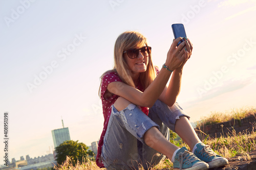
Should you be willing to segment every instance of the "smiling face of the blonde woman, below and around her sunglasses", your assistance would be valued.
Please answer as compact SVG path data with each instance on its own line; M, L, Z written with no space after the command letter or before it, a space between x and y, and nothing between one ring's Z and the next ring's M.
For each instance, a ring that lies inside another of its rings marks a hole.
M146 46L144 44L144 46ZM137 47L136 49L139 49L139 47ZM124 59L127 63L127 65L129 66L133 76L139 75L140 72L145 72L146 71L146 67L148 64L148 57L144 57L141 52L139 52L139 55L137 58L129 58L127 56L127 53L124 53Z

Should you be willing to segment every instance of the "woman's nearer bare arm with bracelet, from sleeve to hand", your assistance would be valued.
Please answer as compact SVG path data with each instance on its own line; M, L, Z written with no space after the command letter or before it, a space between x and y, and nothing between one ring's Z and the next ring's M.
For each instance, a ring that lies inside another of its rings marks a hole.
M175 70L181 66L188 57L187 51L182 49L185 46L185 41L176 47L181 39L182 38L179 37L174 40L167 53L165 65L167 65L170 70ZM122 82L112 82L108 85L107 89L111 93L122 96L124 99L135 105L152 107L163 92L171 74L172 72L162 68L156 79L145 89L144 92Z

